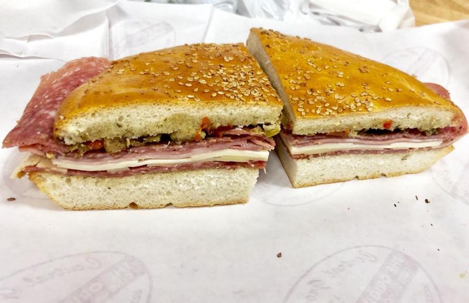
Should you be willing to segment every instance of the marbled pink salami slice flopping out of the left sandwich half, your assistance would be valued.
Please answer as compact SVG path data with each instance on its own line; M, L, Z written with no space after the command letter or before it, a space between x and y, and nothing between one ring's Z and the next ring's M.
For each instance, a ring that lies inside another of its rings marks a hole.
M68 151L52 136L57 109L68 94L110 64L106 58L82 58L41 77L41 83L26 105L20 121L3 140L3 147L29 147L42 152Z

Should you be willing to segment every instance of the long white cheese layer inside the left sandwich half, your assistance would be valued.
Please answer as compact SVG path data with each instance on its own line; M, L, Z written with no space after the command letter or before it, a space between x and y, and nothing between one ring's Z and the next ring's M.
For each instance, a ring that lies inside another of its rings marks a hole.
M267 161L269 151L240 151L226 149L221 151L204 152L195 154L190 157L181 159L140 159L140 160L126 160L114 163L86 163L80 161L68 161L65 159L52 159L52 163L60 168L96 172L96 171L116 171L127 167L137 166L163 166L163 165L177 165L188 164L194 162L206 161L230 161L230 162L247 162L247 161Z

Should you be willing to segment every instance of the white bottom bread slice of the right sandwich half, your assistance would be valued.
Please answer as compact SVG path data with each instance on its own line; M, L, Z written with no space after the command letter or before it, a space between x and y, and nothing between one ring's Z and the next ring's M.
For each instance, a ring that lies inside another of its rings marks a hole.
M452 151L453 147L383 154L346 153L311 159L293 159L278 139L275 149L292 186L298 188L354 178L371 179L420 173Z

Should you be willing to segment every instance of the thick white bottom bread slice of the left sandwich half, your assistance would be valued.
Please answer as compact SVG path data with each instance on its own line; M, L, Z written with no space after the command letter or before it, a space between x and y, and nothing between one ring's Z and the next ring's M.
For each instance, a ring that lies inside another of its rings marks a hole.
M107 178L34 172L29 179L63 208L90 210L246 203L258 175L238 167Z

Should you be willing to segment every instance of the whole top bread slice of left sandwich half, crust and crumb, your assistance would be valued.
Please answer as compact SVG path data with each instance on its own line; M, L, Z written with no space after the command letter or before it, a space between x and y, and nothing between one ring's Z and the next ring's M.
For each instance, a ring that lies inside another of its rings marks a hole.
M177 134L203 123L279 129L283 104L244 44L193 44L112 62L58 109L54 136L66 144ZM205 121L205 122L204 122Z

